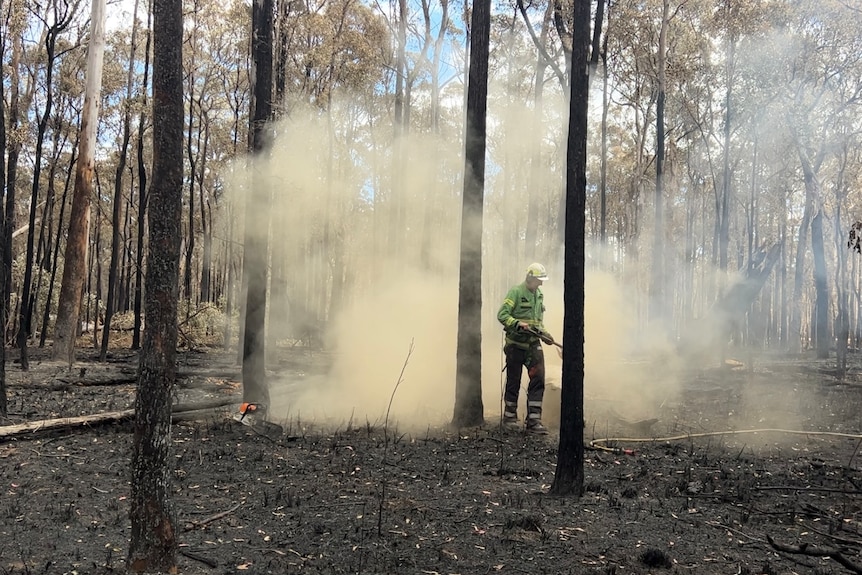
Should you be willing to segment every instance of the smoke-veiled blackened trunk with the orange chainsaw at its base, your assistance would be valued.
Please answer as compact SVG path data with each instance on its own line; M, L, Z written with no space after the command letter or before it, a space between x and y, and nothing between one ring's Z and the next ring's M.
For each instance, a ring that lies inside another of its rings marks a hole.
M272 28L273 0L254 0L252 8L252 76L254 112L252 152L262 160L268 145L272 117ZM242 348L243 401L269 404L266 381L266 285L269 243L269 182L256 181L246 203L245 273L246 308Z

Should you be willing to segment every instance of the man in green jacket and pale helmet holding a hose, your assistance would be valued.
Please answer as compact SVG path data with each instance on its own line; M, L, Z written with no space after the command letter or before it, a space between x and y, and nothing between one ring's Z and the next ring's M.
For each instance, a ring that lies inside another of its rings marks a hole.
M497 319L506 332L506 391L503 396L503 426L518 426L518 395L521 373L527 368L530 382L527 386L528 433L545 435L542 425L542 398L545 395L545 355L540 336L548 338L542 318L545 313L542 290L539 286L548 279L545 266L530 264L524 282L512 287L497 312Z

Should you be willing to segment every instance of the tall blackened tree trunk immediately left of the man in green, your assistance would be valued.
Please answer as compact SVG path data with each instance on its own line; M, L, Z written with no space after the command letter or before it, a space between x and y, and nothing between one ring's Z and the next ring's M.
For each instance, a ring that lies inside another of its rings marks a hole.
M455 414L458 427L484 423L482 406L482 204L485 199L485 140L488 107L488 43L491 1L473 2L464 197L461 206L461 266L458 285L458 347Z

